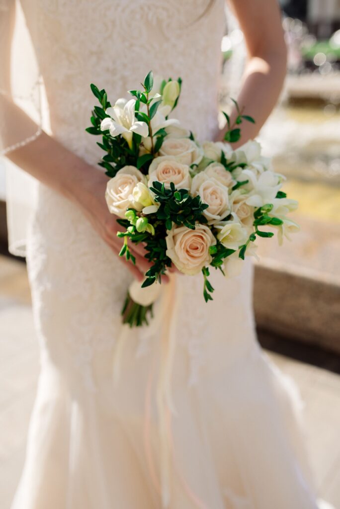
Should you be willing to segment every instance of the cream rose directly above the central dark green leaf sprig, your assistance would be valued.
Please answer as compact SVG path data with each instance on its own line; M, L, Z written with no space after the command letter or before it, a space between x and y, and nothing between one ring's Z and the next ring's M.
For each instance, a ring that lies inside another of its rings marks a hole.
M156 157L149 167L149 187L154 181L164 182L167 189L171 182L177 189L189 189L191 183L189 166L180 163L174 156Z

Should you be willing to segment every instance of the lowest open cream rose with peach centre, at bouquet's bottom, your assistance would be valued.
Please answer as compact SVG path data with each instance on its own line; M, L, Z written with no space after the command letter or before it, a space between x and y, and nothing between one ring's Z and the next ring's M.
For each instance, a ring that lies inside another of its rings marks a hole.
M209 265L212 258L209 247L216 239L205 224L196 224L194 230L173 226L166 236L166 254L180 272L194 275Z

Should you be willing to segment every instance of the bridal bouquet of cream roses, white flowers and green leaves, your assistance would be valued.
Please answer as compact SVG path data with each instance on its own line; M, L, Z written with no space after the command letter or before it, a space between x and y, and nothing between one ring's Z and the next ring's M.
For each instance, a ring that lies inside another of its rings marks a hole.
M154 79L142 90L130 90L130 100L114 106L105 90L91 85L100 105L92 112L91 134L101 135L105 155L100 166L111 177L105 198L123 228L120 256L135 258L129 242L145 246L151 267L142 285L134 282L123 307L123 321L148 323L161 277L173 265L182 273L203 274L203 296L212 300L211 267L230 276L247 255L256 256L257 237L272 237L272 227L289 238L298 225L287 217L297 208L280 190L284 177L274 173L261 147L249 141L233 150L226 142L240 138L243 115L228 124L225 142L200 144L191 131L168 116L176 107L181 79ZM265 229L263 229L265 228Z

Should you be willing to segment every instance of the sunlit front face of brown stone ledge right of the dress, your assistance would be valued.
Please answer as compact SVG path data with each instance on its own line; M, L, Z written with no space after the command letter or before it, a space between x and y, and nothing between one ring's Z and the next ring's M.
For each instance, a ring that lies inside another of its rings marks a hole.
M257 325L282 337L340 353L340 285L328 274L256 265Z

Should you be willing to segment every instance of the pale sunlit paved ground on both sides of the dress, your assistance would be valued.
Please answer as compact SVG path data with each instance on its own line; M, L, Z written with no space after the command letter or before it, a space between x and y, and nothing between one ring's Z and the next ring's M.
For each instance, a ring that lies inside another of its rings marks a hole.
M340 376L269 354L305 402L306 439L320 494L340 508ZM38 375L24 264L0 257L0 506L8 509L24 459Z

